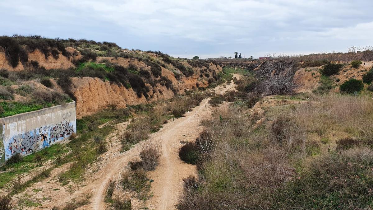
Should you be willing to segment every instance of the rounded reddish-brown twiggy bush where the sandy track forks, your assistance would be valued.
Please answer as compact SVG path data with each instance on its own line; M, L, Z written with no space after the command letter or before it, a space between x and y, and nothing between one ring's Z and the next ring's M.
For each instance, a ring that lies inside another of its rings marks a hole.
M154 170L159 163L162 154L160 142L153 139L145 141L141 145L140 158L145 170Z

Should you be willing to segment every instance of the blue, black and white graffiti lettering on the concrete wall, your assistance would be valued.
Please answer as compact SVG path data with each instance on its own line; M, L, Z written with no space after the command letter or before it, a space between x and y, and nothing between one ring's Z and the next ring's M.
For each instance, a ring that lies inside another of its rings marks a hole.
M68 138L73 133L73 123L68 121L19 133L10 139L7 147L9 150L5 151L5 159L16 153L26 155L49 147L60 140Z

